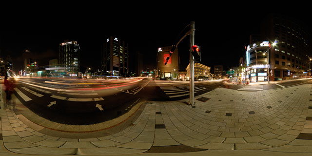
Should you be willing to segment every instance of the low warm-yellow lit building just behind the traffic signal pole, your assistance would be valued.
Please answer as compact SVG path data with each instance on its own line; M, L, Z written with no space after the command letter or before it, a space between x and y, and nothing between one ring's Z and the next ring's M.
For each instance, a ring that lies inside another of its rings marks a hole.
M187 79L190 78L190 64L186 67L187 70ZM200 63L194 63L194 78L199 76L210 78L210 67L207 67Z

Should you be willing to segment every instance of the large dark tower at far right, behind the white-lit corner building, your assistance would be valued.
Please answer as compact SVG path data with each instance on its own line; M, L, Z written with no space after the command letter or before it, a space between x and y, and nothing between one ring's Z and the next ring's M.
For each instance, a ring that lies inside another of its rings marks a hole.
M272 80L309 73L312 54L308 30L300 20L279 14L271 14L262 22L261 36L276 43L269 57Z

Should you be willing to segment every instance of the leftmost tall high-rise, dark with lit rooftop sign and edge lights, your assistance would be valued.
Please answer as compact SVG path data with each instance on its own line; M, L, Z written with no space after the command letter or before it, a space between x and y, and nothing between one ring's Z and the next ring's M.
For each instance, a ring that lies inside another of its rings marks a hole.
M80 69L80 47L77 41L65 40L59 44L59 69L77 76Z

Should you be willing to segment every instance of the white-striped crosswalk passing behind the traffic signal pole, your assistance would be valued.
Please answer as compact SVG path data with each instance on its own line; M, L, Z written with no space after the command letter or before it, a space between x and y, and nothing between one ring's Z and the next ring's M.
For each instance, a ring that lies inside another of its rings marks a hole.
M169 97L169 98L177 98L184 97L190 95L190 87L187 85L164 85L159 86L159 88ZM198 91L205 91L205 87L194 87L194 93Z

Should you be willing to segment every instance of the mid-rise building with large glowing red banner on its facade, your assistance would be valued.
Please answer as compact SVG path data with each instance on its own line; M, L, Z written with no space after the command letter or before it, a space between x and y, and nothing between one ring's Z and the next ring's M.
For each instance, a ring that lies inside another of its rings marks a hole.
M171 53L171 58L166 63L166 58L170 56L172 46L160 47L157 50L156 78L176 79L178 77L178 48Z

